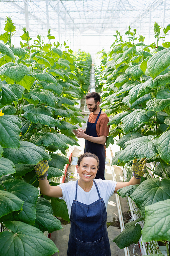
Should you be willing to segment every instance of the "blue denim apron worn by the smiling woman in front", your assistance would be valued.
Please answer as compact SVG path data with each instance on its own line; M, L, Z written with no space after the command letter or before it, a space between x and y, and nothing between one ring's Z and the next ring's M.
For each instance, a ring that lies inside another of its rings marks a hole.
M77 201L77 181L75 200L71 206L67 256L111 256L106 207L95 180L93 182L99 199L87 205Z

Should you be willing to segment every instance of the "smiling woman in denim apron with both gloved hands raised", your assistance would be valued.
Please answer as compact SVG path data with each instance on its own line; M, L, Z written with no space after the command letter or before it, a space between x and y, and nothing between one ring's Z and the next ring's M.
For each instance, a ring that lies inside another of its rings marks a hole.
M80 156L76 165L78 181L69 181L50 186L47 180L48 163L40 162L35 171L39 176L39 187L49 197L59 197L67 204L70 217L70 235L67 256L111 256L107 234L107 204L117 189L139 184L145 174L147 160L134 160L134 177L126 183L95 179L99 159L90 152Z

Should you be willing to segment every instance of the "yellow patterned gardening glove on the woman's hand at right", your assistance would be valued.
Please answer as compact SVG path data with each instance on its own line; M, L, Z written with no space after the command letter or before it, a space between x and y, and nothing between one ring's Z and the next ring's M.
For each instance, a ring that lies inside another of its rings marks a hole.
M146 173L146 165L145 164L147 162L148 161L146 160L146 158L140 159L140 161L138 163L137 163L136 158L133 160L132 171L133 171L133 176L136 179L140 179L140 177Z

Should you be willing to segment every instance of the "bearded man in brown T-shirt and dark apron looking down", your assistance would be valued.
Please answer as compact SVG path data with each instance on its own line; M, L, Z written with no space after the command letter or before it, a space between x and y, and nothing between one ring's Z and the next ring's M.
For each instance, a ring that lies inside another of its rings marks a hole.
M96 175L96 179L105 179L105 142L109 132L109 119L107 115L100 109L100 95L96 92L92 92L86 95L87 108L90 111L90 115L85 130L79 128L74 130L75 135L78 138L85 139L84 152L91 152L96 154L99 158L99 169Z

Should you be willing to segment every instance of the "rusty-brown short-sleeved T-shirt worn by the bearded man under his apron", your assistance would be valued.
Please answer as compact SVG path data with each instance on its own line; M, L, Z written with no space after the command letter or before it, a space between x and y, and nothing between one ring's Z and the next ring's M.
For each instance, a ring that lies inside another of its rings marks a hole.
M88 120L89 123L95 123L97 116L98 114L94 114L93 112L90 113L89 120ZM110 127L110 125L107 126L108 122L109 122L108 116L105 113L103 114L101 113L96 124L96 132L98 137L102 135L108 136L109 127Z

